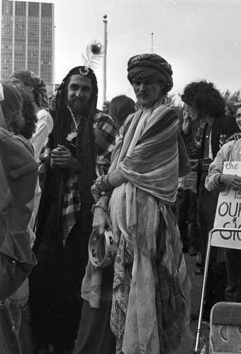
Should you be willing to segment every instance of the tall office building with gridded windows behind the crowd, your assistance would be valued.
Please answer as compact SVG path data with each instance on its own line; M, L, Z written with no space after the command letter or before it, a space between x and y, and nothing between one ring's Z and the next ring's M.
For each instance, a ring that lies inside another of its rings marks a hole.
M54 83L53 1L0 0L1 77L28 69Z

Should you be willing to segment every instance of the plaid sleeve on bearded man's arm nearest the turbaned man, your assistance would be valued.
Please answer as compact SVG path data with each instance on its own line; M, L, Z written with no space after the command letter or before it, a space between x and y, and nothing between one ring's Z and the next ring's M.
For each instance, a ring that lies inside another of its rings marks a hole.
M97 164L109 166L118 135L113 119L109 115L97 111L94 117L94 134L96 137Z

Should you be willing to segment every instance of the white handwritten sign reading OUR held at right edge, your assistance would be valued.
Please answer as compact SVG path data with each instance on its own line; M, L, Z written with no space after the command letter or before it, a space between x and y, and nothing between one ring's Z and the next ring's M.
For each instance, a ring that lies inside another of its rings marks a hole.
M240 161L225 161L223 173L241 176ZM214 228L241 229L241 190L225 188L219 193ZM241 249L241 232L215 232L213 246Z

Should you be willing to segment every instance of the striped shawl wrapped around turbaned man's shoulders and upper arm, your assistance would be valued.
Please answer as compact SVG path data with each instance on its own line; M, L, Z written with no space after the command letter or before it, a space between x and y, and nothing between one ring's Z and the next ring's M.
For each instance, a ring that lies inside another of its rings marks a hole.
M179 173L176 113L166 105L144 113L138 110L126 125L128 130L124 127L123 142L116 144L109 172L118 166L136 187L163 202L174 202Z

